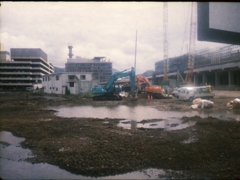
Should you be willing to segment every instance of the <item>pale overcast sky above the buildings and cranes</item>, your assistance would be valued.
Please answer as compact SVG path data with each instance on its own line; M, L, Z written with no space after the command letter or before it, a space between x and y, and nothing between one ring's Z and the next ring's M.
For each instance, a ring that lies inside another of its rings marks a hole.
M162 2L1 2L0 13L5 51L41 48L56 67L65 67L68 44L74 58L105 56L122 71L134 66L137 42L137 74L164 59ZM187 52L189 20L190 2L168 2L169 57ZM197 41L195 48L219 45Z

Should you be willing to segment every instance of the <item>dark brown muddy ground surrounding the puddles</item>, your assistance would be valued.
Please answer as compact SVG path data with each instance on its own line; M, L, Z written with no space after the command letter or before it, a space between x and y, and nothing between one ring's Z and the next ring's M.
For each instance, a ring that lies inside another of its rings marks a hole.
M233 97L216 96L212 109L222 112ZM101 177L147 168L173 170L177 178L240 178L240 122L213 117L183 117L196 125L175 131L123 129L120 119L57 117L49 106L135 104L159 110L192 111L191 102L176 98L131 101L92 101L77 96L29 92L0 93L0 130L24 137L21 143L36 155L32 163L46 162L74 174ZM159 117L161 119L161 117ZM191 137L192 143L182 143ZM179 173L177 173L179 172ZM171 177L170 177L171 178Z

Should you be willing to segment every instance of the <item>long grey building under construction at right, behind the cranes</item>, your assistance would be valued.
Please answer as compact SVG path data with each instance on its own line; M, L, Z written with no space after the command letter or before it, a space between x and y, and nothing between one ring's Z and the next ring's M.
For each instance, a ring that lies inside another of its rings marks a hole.
M188 54L168 59L168 78L176 85L186 81ZM164 60L155 63L153 80L160 85L164 80ZM192 73L194 85L212 85L220 89L240 89L240 46L228 45L195 53Z

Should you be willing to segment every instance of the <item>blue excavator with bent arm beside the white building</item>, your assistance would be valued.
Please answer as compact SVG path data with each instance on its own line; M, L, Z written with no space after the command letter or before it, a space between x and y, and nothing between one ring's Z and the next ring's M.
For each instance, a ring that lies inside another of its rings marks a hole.
M122 100L122 96L119 95L119 92L116 92L116 89L119 88L118 83L116 82L119 78L122 77L130 77L130 92L129 96L131 98L136 98L136 80L135 80L135 69L132 67L130 69L126 69L121 72L116 72L113 74L107 85L98 85L94 86L92 88L92 94L93 100L94 101L99 101L99 100L115 100L115 101L120 101Z

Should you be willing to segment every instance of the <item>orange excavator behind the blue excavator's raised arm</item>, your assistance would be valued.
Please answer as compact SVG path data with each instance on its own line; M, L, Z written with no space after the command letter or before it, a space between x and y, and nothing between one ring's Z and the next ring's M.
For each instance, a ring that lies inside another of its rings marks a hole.
M154 98L165 97L165 91L161 86L151 85L149 80L144 76L136 76L138 91L147 93Z

